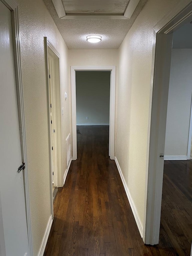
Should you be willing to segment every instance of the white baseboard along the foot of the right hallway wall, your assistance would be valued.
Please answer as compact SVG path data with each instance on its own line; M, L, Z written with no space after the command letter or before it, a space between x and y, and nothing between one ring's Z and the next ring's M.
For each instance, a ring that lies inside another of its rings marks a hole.
M118 171L119 171L121 180L122 180L122 182L123 182L123 186L124 186L124 188L125 188L125 192L126 192L126 194L127 194L127 198L128 198L129 204L130 204L130 206L131 206L131 210L132 210L132 212L133 212L133 215L134 215L134 218L135 218L135 221L136 221L136 224L137 224L139 233L140 233L140 235L141 235L141 238L143 238L143 227L142 227L142 224L141 224L139 215L138 215L138 213L137 213L137 209L136 209L136 207L135 207L135 205L134 205L133 199L132 199L131 194L130 194L130 192L129 192L129 189L128 189L126 183L125 183L125 179L124 179L124 177L123 177L122 170L121 170L121 168L120 168L120 166L119 166L119 163L118 163L118 161L117 161L116 156L115 156L115 162L116 162L117 169L118 169Z

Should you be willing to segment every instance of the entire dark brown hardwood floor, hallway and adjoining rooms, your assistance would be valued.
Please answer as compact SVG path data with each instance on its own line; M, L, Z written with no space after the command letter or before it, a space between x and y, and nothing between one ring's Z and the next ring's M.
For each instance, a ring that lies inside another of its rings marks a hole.
M190 255L192 161L165 161L160 242L146 246L108 156L109 127L78 128L78 159L58 189L44 256Z

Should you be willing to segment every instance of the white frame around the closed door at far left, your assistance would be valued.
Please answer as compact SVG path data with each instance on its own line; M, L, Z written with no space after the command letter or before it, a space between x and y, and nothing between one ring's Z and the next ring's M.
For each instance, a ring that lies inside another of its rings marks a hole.
M25 192L25 206L27 219L27 233L29 242L29 255L33 255L32 249L32 230L31 230L31 215L29 205L29 183L28 183L28 168L27 168L27 151L26 151L26 134L25 134L25 118L24 118L24 104L23 104L23 89L22 89L22 75L21 75L21 55L20 55L20 38L19 38L19 15L18 5L14 0L1 0L11 11L12 33L13 33L13 54L15 65L17 104L19 116L19 131L21 141L21 156L22 162L25 163L25 170L23 170L24 192ZM0 229L0 236L3 230Z

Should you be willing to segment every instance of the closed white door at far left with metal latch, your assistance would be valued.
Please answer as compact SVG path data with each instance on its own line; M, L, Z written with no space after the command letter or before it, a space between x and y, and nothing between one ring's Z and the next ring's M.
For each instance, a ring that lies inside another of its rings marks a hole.
M11 12L0 1L0 195L6 256L29 255ZM4 255L3 255L4 256Z

